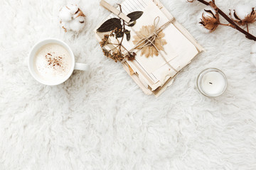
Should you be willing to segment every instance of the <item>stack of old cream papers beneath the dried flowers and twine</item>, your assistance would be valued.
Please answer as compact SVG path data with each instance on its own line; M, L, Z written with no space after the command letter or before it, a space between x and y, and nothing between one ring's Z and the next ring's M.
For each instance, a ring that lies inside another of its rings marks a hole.
M125 0L122 3L122 11L126 15L133 11L144 12L142 17L137 20L136 25L132 27L131 40L125 40L122 43L127 50L133 49L136 32L142 26L154 25L156 17L159 17L158 27L168 21L174 21L163 30L167 44L164 45L165 52L161 53L162 56L145 57L141 56L141 50L137 50L135 60L123 63L124 69L145 94L159 96L172 84L176 74L186 67L203 50L203 47L181 24L174 20L171 13L158 0ZM106 20L113 17L117 16L112 13ZM97 33L96 30L95 33L97 40L102 40L104 33Z

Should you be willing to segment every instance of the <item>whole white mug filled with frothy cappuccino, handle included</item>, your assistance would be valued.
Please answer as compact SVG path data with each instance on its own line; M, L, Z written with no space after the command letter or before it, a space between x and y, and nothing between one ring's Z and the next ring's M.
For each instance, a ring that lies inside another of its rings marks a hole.
M75 69L87 71L90 67L88 64L75 62L73 51L62 40L41 40L29 52L28 70L41 84L62 84L70 78Z

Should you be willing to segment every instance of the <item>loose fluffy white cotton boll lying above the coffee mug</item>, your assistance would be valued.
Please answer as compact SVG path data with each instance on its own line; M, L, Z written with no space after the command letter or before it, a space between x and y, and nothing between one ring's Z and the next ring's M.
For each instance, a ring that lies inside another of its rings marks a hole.
M80 32L85 27L85 14L77 5L70 4L61 8L59 18L65 32L68 30Z

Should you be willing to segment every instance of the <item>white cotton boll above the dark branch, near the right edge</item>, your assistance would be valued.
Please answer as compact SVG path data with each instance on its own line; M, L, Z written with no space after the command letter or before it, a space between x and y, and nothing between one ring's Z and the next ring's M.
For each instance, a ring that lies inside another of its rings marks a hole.
M247 23L254 23L256 21L256 9L250 5L239 4L236 8L230 9L230 17L242 26Z

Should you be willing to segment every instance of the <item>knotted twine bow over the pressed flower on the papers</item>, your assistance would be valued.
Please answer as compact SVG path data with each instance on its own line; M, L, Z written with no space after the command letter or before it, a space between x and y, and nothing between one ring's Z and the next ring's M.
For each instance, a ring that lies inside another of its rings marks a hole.
M164 57L164 55L161 54L161 50L159 50L156 45L154 44L155 40L156 39L159 39L160 42L161 42L161 47L163 47L164 49L164 45L161 41L161 38L159 38L159 33L164 30L167 26L169 26L171 23L173 23L175 21L175 18L172 18L170 21L168 21L167 23L165 23L163 26L161 26L160 28L156 29L157 25L159 24L159 20L160 20L160 17L157 16L155 19L154 19L154 31L151 35L147 36L147 37L142 37L141 35L139 35L136 31L134 31L137 36L140 38L139 42L137 42L137 44L132 48L132 50L130 50L129 52L133 52L134 50L138 49L138 50L142 50L142 48L144 47L149 47L149 46L153 46L157 52L159 52L159 54L161 55L161 57L163 57L163 59L165 60L165 62L167 64L169 64L169 66L171 67L171 69L174 69L174 67L171 66L171 64L166 60L166 58ZM132 28L132 30L134 30ZM142 45L142 46L141 46ZM166 54L166 51L163 50L164 53ZM167 55L167 54L166 54ZM125 61L125 59L124 59ZM124 62L123 61L123 62ZM176 69L174 69L174 71L176 73L178 73L178 71Z

